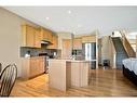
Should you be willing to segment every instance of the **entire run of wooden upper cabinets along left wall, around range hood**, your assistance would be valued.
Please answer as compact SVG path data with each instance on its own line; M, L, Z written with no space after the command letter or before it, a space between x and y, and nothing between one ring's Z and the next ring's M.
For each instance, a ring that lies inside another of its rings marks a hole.
M58 37L49 29L23 25L22 33L22 47L41 48L41 40L51 42L47 49L57 49L58 47Z

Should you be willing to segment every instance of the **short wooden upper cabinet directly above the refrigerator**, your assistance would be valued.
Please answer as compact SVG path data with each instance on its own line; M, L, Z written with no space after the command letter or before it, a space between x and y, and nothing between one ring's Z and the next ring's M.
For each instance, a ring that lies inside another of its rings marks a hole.
M82 43L96 42L96 35L82 36Z

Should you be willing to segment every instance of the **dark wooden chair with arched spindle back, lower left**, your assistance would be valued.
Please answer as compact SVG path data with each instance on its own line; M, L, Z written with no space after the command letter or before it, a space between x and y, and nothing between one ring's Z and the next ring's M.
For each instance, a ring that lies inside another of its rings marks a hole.
M17 77L17 67L15 64L8 65L0 76L0 96L9 96Z

